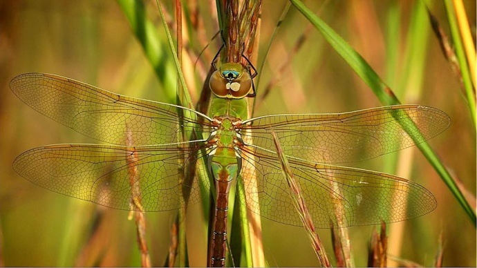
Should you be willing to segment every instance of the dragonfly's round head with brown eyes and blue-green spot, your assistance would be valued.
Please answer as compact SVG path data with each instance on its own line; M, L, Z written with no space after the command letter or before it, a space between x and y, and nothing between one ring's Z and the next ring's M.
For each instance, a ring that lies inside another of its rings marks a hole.
M227 99L242 99L252 89L252 78L241 64L222 64L209 79L212 93Z

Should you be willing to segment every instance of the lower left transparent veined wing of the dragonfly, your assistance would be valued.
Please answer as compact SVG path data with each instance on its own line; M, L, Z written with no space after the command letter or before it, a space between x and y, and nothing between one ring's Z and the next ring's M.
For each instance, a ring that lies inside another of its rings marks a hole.
M180 164L182 157L186 160ZM73 198L124 210L134 209L134 199L144 211L169 211L184 204L183 195L188 204L200 200L197 180L180 182L184 167L191 165L196 175L207 178L205 168L196 164L200 157L200 150L177 145L57 144L22 153L13 168L30 182ZM208 191L204 181L202 191Z

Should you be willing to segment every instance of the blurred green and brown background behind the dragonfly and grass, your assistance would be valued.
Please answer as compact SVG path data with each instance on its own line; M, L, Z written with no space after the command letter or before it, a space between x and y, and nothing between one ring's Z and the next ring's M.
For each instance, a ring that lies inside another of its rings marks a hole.
M286 1L264 1L259 35L259 65ZM460 84L442 55L422 15L422 1L306 1L328 25L355 48L395 90L404 104L445 111L452 124L430 144L465 189L476 194L476 131ZM475 1L464 1L474 30ZM147 16L160 32L162 77L144 57L129 23L115 1L0 1L0 265L5 266L139 266L135 224L127 211L99 207L41 189L19 177L12 161L28 149L57 143L94 143L23 104L10 91L10 79L41 72L71 77L115 93L169 102L176 71L159 12L147 1ZM441 1L427 2L449 35ZM204 72L220 47L215 1L189 1L185 70L189 86L200 90ZM173 3L163 4L174 25ZM417 10L417 11L416 11ZM419 13L421 12L421 13ZM417 30L409 30L418 25ZM305 33L303 46L293 52ZM196 68L194 61L205 45ZM190 58L190 60L189 60ZM279 68L284 66L283 69ZM270 94L263 90L273 80ZM265 59L255 115L272 113L338 113L380 106L371 90L330 48L297 10L290 8ZM200 94L193 88L194 103ZM174 90L172 90L174 91ZM169 95L168 95L169 94ZM418 219L389 224L389 245L400 258L433 265L442 232L445 266L476 266L476 228L430 164L416 149L384 155L352 166L413 180L438 200L435 211ZM406 163L406 160L408 162ZM409 171L405 172L409 166ZM393 166L397 166L397 169ZM475 204L474 204L475 205ZM195 207L194 207L195 208ZM207 229L197 209L187 215L189 263L203 266ZM152 264L162 266L168 253L175 213L147 213ZM306 232L263 219L263 245L270 266L316 266ZM364 266L373 227L349 228L356 265ZM92 230L94 236L91 235ZM279 234L279 235L277 235ZM331 256L330 231L319 230Z

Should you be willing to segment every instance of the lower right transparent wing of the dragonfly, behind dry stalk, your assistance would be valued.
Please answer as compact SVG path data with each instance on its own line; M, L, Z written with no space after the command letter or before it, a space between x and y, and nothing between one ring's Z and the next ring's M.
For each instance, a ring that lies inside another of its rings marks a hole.
M241 202L270 220L302 226L277 154L251 147L242 153L246 163L241 177L256 178L256 183L238 180L247 196ZM317 228L398 222L422 216L437 206L427 189L393 175L296 158L288 161Z

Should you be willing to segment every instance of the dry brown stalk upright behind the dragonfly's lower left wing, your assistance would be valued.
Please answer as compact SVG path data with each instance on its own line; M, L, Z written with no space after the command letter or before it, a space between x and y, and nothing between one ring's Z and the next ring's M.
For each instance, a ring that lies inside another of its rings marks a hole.
M129 219L134 215L136 224L136 232L138 234L138 247L141 253L141 266L151 267L151 259L149 258L149 249L147 249L146 242L146 218L144 216L144 209L141 204L141 190L139 185L138 153L133 147L133 135L131 128L127 127L127 164L129 168L129 184L131 185L131 213Z

